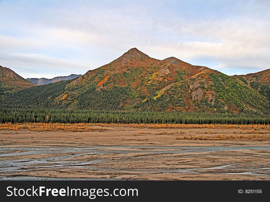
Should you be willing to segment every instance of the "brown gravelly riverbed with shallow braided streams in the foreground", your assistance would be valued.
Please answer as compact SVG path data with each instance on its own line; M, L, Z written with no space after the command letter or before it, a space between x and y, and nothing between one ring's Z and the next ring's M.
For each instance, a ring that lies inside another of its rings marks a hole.
M188 139L220 135L235 139ZM270 131L260 130L261 139L250 139L253 135L241 129L128 127L77 133L0 131L0 176L270 180Z

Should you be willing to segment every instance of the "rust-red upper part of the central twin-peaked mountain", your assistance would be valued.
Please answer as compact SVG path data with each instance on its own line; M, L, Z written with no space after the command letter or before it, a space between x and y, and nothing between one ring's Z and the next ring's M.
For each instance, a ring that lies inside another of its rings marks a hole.
M208 68L193 66L175 57L157 60L133 48L109 64L88 71L69 87L78 89L95 85L97 89L110 89L113 86L130 85L131 89L150 95L205 69Z

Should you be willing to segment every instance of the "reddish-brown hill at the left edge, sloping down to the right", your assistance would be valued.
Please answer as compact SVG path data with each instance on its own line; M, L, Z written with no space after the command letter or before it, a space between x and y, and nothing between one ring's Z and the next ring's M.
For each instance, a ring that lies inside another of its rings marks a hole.
M0 95L36 86L9 68L0 66Z

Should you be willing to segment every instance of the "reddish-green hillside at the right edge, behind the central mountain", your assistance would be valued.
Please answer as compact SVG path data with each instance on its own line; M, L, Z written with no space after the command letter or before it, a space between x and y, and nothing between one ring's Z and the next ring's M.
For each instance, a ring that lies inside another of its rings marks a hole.
M270 69L246 75L233 75L232 77L257 90L270 101Z

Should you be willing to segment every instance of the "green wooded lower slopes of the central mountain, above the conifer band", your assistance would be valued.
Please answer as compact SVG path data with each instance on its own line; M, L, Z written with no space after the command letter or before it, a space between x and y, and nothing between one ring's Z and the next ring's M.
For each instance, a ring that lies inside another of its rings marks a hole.
M0 106L140 112L193 110L210 113L269 113L267 99L254 89L222 73L209 75L209 81L205 81L206 83L201 82L203 80L200 78L192 78L189 80L191 83L187 80L179 81L166 90L157 90L148 96L138 92L137 89L132 89L130 85L125 87L113 85L110 88L97 89L94 80L88 80L89 82L83 87L77 86L71 89L69 84L75 80L60 81L5 94L0 98ZM103 72L97 72L94 77L103 78ZM191 90L189 86L194 85L196 81L198 81L197 87ZM210 85L210 82L213 84ZM203 93L199 100L195 99L196 97L193 98L192 92L198 89L202 89L203 92L214 92L215 99L208 99L206 93Z

